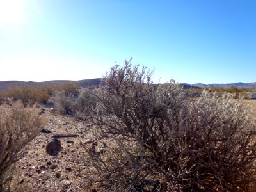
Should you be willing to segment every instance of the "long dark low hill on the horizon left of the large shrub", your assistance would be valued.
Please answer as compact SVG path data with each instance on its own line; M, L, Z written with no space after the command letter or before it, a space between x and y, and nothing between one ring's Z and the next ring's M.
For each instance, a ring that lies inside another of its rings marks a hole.
M9 88L12 87L22 87L22 86L32 86L32 87L40 87L40 86L61 86L62 83L65 82L74 82L78 86L86 88L99 86L101 78L97 79L84 79L79 81L69 81L69 80L53 80L53 81L43 81L43 82L35 82L35 81L0 81L0 92L5 92Z

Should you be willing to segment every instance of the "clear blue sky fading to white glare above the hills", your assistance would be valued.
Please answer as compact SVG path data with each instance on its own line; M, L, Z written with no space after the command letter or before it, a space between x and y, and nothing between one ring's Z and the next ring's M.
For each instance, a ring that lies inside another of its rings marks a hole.
M255 0L0 0L0 81L102 77L155 68L154 81L256 81Z

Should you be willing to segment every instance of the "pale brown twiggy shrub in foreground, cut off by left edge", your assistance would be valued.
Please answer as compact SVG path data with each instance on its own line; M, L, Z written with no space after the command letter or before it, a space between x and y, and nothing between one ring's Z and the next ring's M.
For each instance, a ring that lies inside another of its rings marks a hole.
M0 191L9 191L13 164L25 152L26 145L39 133L42 125L33 108L24 108L22 102L0 113Z

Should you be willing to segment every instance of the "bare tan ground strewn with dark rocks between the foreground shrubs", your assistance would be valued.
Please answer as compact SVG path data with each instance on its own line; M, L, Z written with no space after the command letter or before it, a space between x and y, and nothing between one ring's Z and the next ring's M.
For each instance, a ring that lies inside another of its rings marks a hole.
M96 191L79 177L79 170L85 167L77 163L79 158L88 156L92 145L90 125L77 122L72 116L58 115L52 108L37 110L45 116L45 125L17 163L20 191Z

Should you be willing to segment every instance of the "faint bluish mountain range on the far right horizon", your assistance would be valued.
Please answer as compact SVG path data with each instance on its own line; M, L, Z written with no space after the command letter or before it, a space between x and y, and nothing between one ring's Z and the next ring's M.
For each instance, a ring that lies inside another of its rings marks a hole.
M203 83L196 83L192 84L193 86L197 86L200 88L214 88L214 87L221 87L221 88L228 88L231 86L236 86L237 88L256 88L256 82L254 83L226 83L226 84L203 84Z

